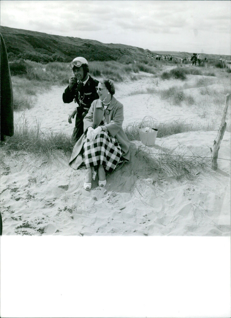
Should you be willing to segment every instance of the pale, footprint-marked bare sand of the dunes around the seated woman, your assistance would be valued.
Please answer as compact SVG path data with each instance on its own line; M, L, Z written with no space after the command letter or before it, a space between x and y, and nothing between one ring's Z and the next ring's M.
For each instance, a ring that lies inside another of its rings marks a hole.
M188 76L193 86L198 76ZM219 89L219 79L212 84ZM153 81L153 82L152 82ZM223 109L205 101L196 105L171 105L157 94L133 94L134 91L155 87L157 90L183 86L185 82L160 80L144 75L137 81L116 84L115 97L124 105L124 126L140 121L145 115L157 121L185 120L206 123L216 119L220 123ZM54 86L50 92L38 96L35 106L15 113L15 120L24 114L29 125L41 122L41 128L71 135L74 128L68 114L74 102L64 104L65 87ZM188 92L189 91L189 92ZM185 90L195 100L202 97L197 88ZM224 95L225 99L225 95ZM206 116L202 111L206 110ZM230 107L227 121L230 120ZM156 138L160 147L198 156L210 156L210 147L217 131L188 132ZM136 142L137 144L137 142ZM135 150L134 150L135 151ZM1 213L3 234L26 235L194 235L227 236L230 234L230 133L221 142L218 170L200 173L194 180L166 178L154 171L145 176L145 162L134 157L131 163L107 176L104 188L93 182L92 190L83 189L84 169L69 168L69 158L60 156L47 162L23 152L4 157L1 169ZM227 159L227 160L223 160Z

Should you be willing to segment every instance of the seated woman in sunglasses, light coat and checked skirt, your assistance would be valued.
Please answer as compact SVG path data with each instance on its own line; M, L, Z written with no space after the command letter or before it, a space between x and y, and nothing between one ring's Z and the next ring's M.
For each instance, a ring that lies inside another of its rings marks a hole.
M91 104L83 119L83 135L76 142L69 165L86 165L84 189L91 189L92 168L98 169L99 186L106 185L105 171L112 172L130 159L130 142L122 129L123 105L113 96L114 84L104 79L96 87L99 99Z

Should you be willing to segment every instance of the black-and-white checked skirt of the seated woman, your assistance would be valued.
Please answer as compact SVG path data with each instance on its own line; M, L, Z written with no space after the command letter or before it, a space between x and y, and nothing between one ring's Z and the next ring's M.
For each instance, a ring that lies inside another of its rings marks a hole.
M102 164L108 172L113 171L121 161L122 150L115 137L101 131L93 142L88 139L83 145L86 168Z

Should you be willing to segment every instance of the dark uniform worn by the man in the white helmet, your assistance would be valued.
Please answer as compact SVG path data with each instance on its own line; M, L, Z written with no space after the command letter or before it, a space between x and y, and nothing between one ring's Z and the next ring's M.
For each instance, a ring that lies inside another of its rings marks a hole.
M96 92L98 83L99 82L96 79L89 76L89 79L84 86L81 81L78 81L78 83L74 84L72 89L69 89L68 86L62 94L64 103L71 103L75 100L75 103L78 104L75 124L76 129L74 129L72 135L75 141L83 134L83 118L88 113L91 103L93 100L99 98Z

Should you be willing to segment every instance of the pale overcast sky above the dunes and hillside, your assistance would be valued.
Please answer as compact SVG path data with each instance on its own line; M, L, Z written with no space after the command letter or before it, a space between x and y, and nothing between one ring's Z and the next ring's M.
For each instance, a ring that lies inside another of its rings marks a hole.
M151 51L231 54L228 0L1 0L1 25Z

